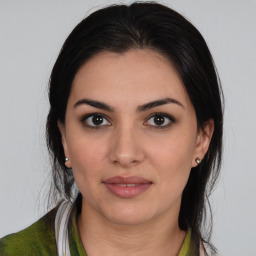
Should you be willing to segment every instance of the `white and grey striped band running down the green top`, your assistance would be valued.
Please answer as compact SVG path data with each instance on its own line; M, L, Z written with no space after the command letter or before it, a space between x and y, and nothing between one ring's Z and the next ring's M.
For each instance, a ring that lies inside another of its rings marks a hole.
M55 239L58 256L71 256L69 249L68 222L73 204L63 201L55 217Z

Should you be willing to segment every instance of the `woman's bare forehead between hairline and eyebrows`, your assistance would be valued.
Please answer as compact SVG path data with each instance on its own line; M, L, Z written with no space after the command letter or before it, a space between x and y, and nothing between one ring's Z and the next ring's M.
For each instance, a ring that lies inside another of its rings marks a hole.
M149 49L95 55L80 68L73 81L70 100L82 97L113 104L142 104L172 97L184 106L190 105L171 62Z

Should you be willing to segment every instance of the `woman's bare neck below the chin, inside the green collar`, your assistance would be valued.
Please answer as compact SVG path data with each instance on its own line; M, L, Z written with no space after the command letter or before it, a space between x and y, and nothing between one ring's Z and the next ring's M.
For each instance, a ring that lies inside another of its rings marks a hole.
M120 225L103 219L83 202L78 229L89 256L174 256L186 236L179 229L178 213L175 215L175 218L167 215L142 224Z

